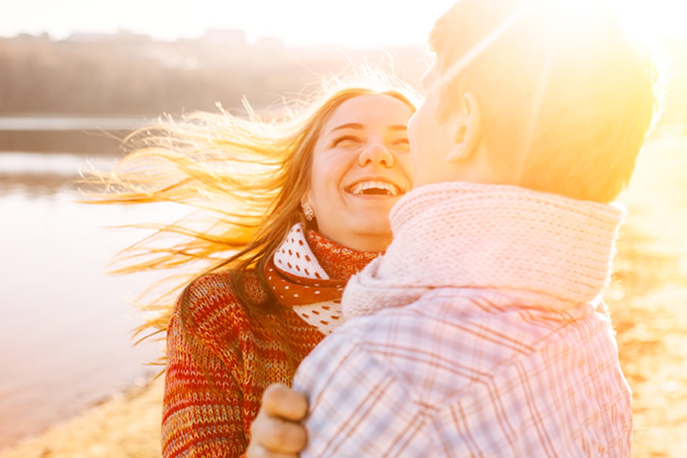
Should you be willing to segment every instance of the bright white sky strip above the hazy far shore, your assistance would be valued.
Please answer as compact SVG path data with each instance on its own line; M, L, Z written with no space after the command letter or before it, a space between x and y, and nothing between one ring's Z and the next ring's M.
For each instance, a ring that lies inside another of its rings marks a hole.
M249 41L287 46L419 45L455 0L5 0L0 36L129 30L162 40L208 28L240 29ZM551 0L565 1L565 0ZM570 0L581 1L594 0ZM623 0L629 23L646 34L687 36L687 0Z

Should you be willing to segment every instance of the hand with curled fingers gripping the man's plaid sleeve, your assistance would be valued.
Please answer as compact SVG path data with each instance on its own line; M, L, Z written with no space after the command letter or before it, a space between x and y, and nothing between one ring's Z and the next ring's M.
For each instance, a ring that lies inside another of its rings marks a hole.
M284 385L270 385L262 394L258 416L251 424L246 458L297 458L308 442L305 426L308 400Z

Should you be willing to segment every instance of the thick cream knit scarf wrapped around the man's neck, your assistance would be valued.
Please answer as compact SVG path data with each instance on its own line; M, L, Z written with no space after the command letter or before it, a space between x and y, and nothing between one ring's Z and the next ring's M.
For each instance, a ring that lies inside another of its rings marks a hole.
M439 183L391 211L394 242L348 282L346 319L403 306L432 288L499 290L554 310L596 299L622 209L508 185Z

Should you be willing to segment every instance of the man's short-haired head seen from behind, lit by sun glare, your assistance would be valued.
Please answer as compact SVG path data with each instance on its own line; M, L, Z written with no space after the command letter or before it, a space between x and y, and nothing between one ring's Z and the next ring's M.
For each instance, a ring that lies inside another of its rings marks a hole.
M416 185L616 198L653 119L656 77L604 3L462 0L441 16L409 126Z

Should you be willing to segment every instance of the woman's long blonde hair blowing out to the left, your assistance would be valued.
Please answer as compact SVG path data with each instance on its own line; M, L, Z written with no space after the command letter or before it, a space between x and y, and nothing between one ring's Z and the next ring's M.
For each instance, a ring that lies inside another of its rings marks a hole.
M129 135L124 149L131 152L112 172L85 179L98 186L87 202L173 202L194 209L169 224L134 225L153 233L113 260L113 273L173 272L137 299L139 308L153 313L135 335L146 331L146 339L164 332L180 290L220 269L231 271L234 293L247 307L271 312L270 289L262 288L267 300L257 303L245 291L245 275L254 271L265 286L271 253L295 223L306 222L300 202L310 186L313 146L328 117L346 100L379 93L413 109L419 100L401 80L366 68L326 80L316 95L284 104L284 113L269 120L246 102L247 117L220 108L181 122L160 119Z

